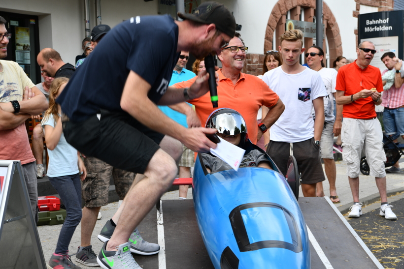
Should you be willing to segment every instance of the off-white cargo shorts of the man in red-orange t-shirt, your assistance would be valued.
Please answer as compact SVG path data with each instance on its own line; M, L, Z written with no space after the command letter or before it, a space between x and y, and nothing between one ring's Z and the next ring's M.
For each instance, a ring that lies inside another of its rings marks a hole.
M383 150L383 132L379 120L360 120L344 118L341 130L342 158L346 162L346 174L354 179L359 177L362 149L370 167L370 176L386 176Z

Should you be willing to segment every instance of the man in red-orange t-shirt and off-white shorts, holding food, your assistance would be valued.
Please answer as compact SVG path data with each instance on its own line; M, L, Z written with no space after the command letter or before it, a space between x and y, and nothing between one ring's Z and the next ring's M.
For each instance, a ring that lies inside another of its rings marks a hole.
M379 189L381 207L380 215L386 219L396 220L387 203L386 172L383 150L383 133L379 120L376 119L375 105L381 104L383 84L380 70L369 65L376 50L370 41L361 42L356 49L357 60L342 66L337 75L338 105L343 105L342 122L342 157L347 164L349 185L354 205L348 217L362 215L362 203L359 203L359 167L361 152L366 144L366 159L370 167L370 176L375 177Z

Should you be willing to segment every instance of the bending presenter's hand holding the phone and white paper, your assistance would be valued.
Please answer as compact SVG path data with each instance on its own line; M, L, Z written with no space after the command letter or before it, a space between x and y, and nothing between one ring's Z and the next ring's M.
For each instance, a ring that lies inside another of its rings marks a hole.
M216 132L216 129L203 127L185 129L181 142L192 151L209 152L210 148L215 149L217 145L210 141L205 134L214 134Z

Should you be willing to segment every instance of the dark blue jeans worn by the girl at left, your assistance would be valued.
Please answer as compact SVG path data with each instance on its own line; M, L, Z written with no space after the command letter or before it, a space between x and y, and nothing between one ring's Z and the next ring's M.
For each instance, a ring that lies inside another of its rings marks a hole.
M79 174L51 178L49 181L56 189L66 206L66 219L60 230L55 253L65 254L71 237L81 221L81 184Z

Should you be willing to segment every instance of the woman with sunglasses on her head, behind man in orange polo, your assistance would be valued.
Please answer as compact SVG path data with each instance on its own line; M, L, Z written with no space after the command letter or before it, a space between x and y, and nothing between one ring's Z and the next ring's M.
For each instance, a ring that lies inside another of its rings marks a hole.
M264 57L264 63L262 65L262 74L258 77L262 79L262 76L278 66L282 65L282 58L278 51L267 51ZM261 120L267 116L269 109L267 107L261 107L258 111L257 122L261 123ZM257 146L266 150L266 146L269 144L269 132L264 133L261 139L257 142Z

